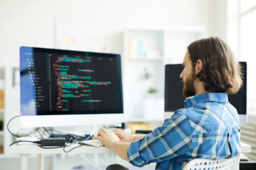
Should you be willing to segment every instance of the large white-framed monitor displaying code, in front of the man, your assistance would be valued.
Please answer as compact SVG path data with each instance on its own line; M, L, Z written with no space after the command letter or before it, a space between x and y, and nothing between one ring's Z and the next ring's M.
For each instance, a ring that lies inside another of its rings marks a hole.
M22 127L125 122L118 54L20 47Z

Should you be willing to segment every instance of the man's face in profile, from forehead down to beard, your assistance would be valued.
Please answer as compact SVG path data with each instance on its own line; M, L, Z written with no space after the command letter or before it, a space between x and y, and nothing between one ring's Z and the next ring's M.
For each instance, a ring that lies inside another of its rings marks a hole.
M185 98L196 95L194 88L194 81L196 80L195 68L192 66L189 53L186 52L183 60L184 69L180 74L181 82L183 84L183 95Z

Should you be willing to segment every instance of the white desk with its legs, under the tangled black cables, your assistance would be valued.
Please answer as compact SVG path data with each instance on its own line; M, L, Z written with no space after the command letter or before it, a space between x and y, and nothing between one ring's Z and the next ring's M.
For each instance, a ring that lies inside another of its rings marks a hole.
M72 144L70 147L66 147L65 151L69 151L74 147L77 147L78 144ZM9 147L10 154L19 154L20 155L20 170L28 169L28 155L29 154L37 154L37 170L44 169L44 154L65 154L63 152L63 148L56 149L42 149L38 147L36 144L29 145L19 145L13 144ZM242 153L250 153L251 146L249 144L245 144L241 142L241 152ZM106 147L89 147L82 146L72 150L72 154L113 154L114 152ZM68 154L69 154L68 153Z

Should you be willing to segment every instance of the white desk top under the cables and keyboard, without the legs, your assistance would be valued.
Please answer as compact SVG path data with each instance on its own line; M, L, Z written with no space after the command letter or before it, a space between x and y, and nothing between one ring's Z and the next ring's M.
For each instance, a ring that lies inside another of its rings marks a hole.
M72 144L70 147L65 147L65 151L69 151L79 144ZM17 143L9 147L10 154L65 154L63 148L55 149L43 149L38 147L37 144L24 144L19 145ZM251 146L249 144L241 142L241 152L250 153ZM84 145L82 147L76 148L69 153L73 154L113 154L114 152L111 149L106 147L91 147Z

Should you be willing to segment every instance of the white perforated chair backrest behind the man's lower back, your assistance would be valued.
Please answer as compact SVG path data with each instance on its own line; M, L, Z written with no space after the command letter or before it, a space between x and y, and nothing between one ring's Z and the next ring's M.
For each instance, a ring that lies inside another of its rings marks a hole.
M239 162L240 155L220 160L193 159L184 166L183 170L238 170Z

